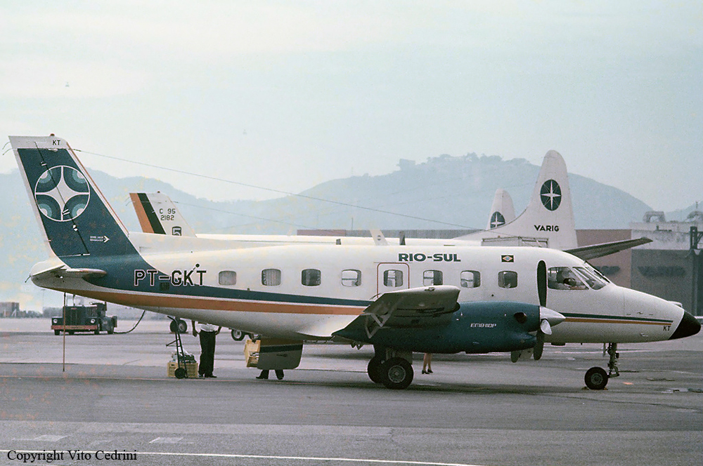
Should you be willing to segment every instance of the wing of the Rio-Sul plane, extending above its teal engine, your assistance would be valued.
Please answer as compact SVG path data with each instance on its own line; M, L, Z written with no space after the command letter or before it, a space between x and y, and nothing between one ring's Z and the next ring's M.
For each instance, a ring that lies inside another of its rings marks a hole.
M343 330L363 326L368 338L380 328L427 328L447 324L458 309L459 288L424 286L380 295Z

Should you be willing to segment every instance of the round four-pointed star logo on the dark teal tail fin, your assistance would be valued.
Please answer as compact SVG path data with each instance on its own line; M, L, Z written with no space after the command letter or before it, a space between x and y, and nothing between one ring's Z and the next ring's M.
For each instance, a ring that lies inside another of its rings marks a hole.
M67 222L83 213L90 200L85 177L70 166L55 166L42 173L34 187L37 208L44 216Z

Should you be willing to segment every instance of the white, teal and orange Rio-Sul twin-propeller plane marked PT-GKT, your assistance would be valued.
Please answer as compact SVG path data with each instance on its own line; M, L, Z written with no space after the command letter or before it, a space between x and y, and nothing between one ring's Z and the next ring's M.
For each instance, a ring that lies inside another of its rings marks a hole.
M413 352L511 352L545 342L609 343L693 335L681 307L616 286L583 260L548 248L283 246L127 232L67 143L11 137L49 246L34 284L283 339L270 368L299 364L304 340L370 344L371 380L405 388ZM262 345L264 340L262 340ZM264 347L262 347L264 352ZM263 356L263 354L262 354Z

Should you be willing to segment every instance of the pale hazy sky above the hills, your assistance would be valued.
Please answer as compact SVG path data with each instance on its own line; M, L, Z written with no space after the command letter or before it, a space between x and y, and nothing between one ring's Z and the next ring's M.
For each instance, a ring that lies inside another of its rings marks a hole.
M0 135L49 133L292 192L401 158L556 149L668 211L703 200L703 3L4 1ZM81 157L202 197L273 196Z

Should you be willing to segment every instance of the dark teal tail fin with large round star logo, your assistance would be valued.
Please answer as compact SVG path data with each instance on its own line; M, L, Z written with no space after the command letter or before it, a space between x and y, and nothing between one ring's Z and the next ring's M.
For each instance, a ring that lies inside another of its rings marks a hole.
M65 140L10 136L10 142L51 254L136 254L127 229Z

